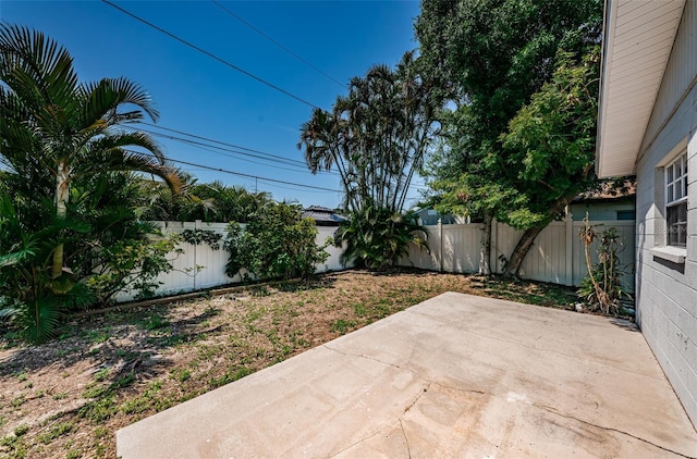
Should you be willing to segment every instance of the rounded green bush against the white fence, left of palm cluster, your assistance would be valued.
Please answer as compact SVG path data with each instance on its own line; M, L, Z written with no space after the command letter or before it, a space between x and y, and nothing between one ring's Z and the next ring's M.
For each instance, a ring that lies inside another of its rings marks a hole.
M236 222L228 225L225 272L245 280L307 277L329 257L316 238L317 227L311 219L303 219L299 206L271 202L244 228Z

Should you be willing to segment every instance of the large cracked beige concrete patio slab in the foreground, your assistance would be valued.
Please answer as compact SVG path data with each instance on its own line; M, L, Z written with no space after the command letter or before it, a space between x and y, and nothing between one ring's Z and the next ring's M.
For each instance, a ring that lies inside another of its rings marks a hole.
M633 325L444 294L117 433L130 458L697 457Z

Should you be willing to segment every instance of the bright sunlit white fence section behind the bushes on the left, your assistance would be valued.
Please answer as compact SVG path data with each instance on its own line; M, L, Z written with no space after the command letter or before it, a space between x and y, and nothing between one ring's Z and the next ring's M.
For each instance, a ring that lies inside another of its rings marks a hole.
M213 288L221 285L234 284L242 282L240 275L229 277L225 274L225 264L228 263L228 252L223 249L223 240L225 239L227 223L205 223L200 220L196 222L155 222L160 231L164 234L181 234L186 231L196 232L201 235L204 232L213 232L221 236L219 247L216 249L205 240L199 244L189 244L182 240L176 249L168 255L168 260L172 264L172 271L160 274L155 282L160 284L156 295L173 295L186 291L201 290ZM244 225L242 225L244 227ZM333 238L335 227L316 226L317 227L317 246L321 247L328 237ZM205 236L204 236L205 239ZM317 272L341 271L351 265L343 265L339 258L342 252L341 247L330 245L325 250L329 253L329 258L323 263L317 264ZM115 300L130 301L135 299L135 291L124 291L117 295Z

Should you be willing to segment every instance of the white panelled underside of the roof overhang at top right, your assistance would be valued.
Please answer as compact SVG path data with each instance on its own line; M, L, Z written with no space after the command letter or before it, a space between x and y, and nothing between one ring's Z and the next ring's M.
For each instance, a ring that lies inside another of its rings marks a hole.
M607 0L596 172L632 175L686 0Z

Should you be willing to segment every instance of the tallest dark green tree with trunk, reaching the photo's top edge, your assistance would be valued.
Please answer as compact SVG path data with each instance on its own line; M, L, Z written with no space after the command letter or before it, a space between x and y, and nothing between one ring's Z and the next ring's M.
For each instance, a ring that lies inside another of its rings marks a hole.
M531 195L541 195L529 182L521 182L526 165L511 141L504 147L503 136L533 95L566 65L560 61L564 52L578 63L598 44L601 12L597 0L423 2L416 22L421 57L441 86L451 89L457 106L447 126L449 172L436 174L436 185L449 195L444 207L462 202L485 221L514 223L525 230L524 238L534 240L546 219L524 221L515 218L515 211L526 199L536 201ZM460 175L453 174L457 166ZM545 188L539 181L537 186ZM528 191L531 195L524 198ZM485 235L485 250L489 237ZM527 244L516 248L506 263L508 274L517 273L527 248ZM482 258L489 259L489 253Z

